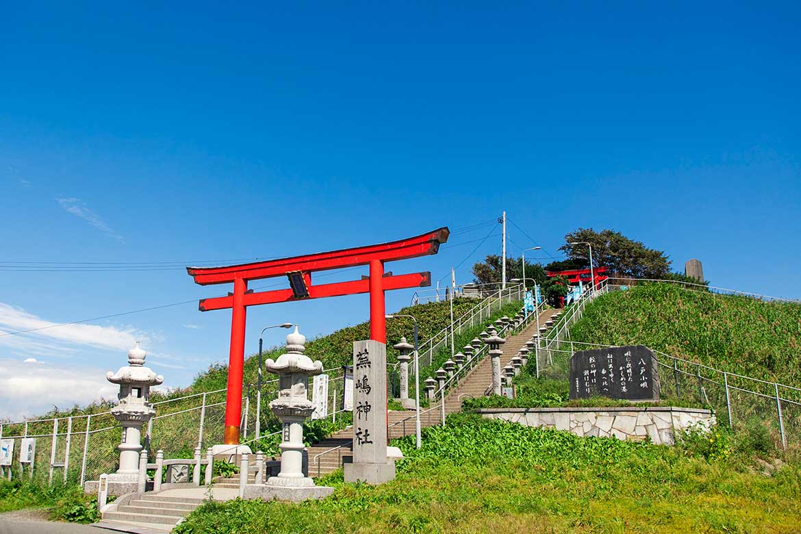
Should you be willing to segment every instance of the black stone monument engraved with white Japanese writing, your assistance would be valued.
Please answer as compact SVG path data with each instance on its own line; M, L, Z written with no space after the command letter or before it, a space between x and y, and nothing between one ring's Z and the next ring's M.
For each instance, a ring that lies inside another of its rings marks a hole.
M570 358L570 399L658 400L656 356L644 345L578 351Z

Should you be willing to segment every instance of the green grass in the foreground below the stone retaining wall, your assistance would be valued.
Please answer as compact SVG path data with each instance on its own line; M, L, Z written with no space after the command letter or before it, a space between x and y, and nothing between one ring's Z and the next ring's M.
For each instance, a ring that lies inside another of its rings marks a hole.
M391 483L336 472L325 500L209 502L174 532L799 532L798 464L755 474L715 436L669 448L451 416L420 451L395 442L407 459Z

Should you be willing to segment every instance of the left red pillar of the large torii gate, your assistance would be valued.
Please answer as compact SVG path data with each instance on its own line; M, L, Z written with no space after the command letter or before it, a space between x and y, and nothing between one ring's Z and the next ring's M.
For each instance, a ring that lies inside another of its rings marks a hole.
M248 283L234 279L234 305L231 313L231 351L228 355L228 384L225 397L225 436L223 444L239 444L242 418L242 367L245 360L245 305Z

